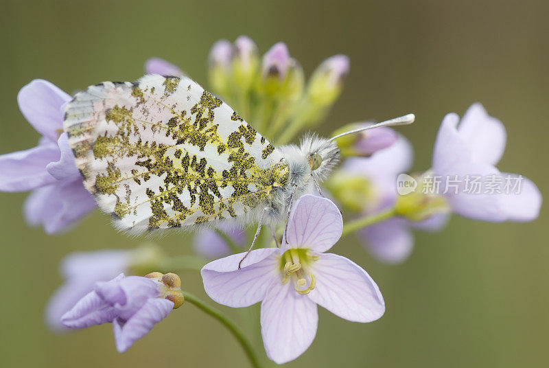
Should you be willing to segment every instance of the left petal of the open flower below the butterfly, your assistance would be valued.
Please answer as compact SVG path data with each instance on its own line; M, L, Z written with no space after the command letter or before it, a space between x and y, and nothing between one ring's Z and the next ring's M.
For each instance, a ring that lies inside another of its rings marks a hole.
M247 307L264 298L277 274L278 248L256 249L242 262L246 253L229 255L202 267L204 290L213 301L233 308Z

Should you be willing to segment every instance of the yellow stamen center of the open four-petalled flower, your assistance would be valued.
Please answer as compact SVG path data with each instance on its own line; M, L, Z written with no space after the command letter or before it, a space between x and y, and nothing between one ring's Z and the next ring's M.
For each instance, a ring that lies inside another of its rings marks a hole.
M309 294L316 286L316 278L311 273L311 264L318 260L309 249L288 249L281 256L282 284L292 280L299 294Z

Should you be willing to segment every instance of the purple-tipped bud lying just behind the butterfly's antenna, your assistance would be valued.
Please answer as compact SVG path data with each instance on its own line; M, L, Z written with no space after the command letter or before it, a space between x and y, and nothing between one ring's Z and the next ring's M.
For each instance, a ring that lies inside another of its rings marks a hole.
M371 126L371 123L347 124L336 130L333 135L349 132ZM336 140L341 154L344 157L359 156L369 157L378 150L390 147L397 140L398 135L391 128L381 127L371 130L364 130L360 133L344 135Z

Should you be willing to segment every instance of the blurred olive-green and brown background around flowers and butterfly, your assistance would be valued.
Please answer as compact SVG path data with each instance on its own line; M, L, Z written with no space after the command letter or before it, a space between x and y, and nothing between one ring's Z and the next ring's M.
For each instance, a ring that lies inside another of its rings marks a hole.
M102 80L136 80L151 56L206 84L209 47L247 34L261 51L277 41L310 73L332 54L351 73L322 133L358 119L413 112L401 128L414 169L430 165L445 113L480 101L509 133L500 168L547 191L549 5L546 1L0 1L0 153L34 146L16 94L34 78L65 91ZM0 193L0 365L3 367L246 367L239 345L194 306L184 306L118 354L110 325L65 335L43 323L60 284L58 262L76 250L132 248L95 212L65 235L25 225L25 194ZM399 266L373 260L351 236L337 252L379 284L386 314L350 323L320 310L318 334L290 367L547 367L549 214L503 225L452 218L442 233L417 233ZM158 240L191 251L182 235ZM204 295L198 275L183 288ZM224 311L237 313L229 308Z

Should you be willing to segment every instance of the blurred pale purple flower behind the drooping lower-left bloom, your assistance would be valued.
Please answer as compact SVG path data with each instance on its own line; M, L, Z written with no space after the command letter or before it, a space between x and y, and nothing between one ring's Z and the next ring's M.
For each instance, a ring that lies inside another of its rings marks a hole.
M45 321L51 330L63 331L61 316L76 302L88 294L97 281L108 281L130 268L133 251L102 250L78 252L67 255L61 262L60 272L64 284L49 298L45 310Z

